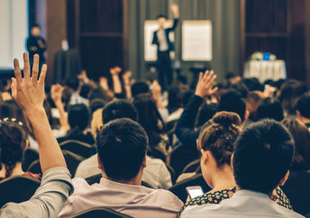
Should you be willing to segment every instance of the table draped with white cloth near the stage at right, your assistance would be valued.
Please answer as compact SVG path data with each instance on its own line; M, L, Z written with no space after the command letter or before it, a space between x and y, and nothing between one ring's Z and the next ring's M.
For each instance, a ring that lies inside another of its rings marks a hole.
M278 60L250 60L244 64L243 77L257 77L261 83L267 79L287 78L286 63Z

